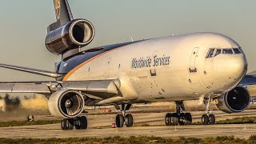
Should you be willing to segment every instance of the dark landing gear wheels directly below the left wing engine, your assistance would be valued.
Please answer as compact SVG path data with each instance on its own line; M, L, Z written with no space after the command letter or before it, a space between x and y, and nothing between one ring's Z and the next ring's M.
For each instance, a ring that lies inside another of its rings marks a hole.
M62 130L85 130L87 129L87 118L86 116L77 118L65 118L61 122Z

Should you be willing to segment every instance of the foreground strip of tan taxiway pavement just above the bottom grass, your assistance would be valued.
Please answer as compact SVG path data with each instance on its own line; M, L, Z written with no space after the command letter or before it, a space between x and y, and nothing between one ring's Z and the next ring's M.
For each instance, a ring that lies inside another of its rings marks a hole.
M2 138L76 138L76 137L216 137L234 135L237 138L249 138L256 134L256 124L214 125L214 126L138 126L132 128L89 128L87 130L60 130L59 125L20 126L1 128Z

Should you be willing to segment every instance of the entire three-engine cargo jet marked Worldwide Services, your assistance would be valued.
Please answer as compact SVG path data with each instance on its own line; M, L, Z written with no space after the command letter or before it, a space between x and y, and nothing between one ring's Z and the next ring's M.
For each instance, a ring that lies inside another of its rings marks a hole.
M50 113L62 118L62 130L87 128L85 106L114 105L116 126L134 125L127 110L134 103L176 102L166 126L189 125L183 102L207 106L203 124L214 124L210 102L219 110L246 110L250 94L238 83L247 71L246 56L233 39L216 33L194 33L99 46L81 51L94 39L94 26L74 19L67 0L54 0L57 22L48 27L46 48L62 56L55 72L22 66L0 66L56 78L54 82L2 82L1 93L38 93L49 99Z

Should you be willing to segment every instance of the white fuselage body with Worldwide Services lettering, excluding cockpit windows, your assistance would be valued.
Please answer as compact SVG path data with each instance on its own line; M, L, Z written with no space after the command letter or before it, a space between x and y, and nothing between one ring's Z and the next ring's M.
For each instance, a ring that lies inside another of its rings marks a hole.
M71 70L63 80L118 78L123 101L216 97L238 85L246 74L247 62L243 53L206 58L210 48L241 50L237 42L222 34L154 38L99 54Z

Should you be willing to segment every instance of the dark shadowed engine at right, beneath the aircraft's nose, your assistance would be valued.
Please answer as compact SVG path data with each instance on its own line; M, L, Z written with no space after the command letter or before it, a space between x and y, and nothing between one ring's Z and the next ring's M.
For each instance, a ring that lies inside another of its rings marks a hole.
M246 87L237 86L234 90L218 98L218 109L226 113L238 113L250 105L250 94Z

